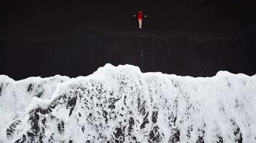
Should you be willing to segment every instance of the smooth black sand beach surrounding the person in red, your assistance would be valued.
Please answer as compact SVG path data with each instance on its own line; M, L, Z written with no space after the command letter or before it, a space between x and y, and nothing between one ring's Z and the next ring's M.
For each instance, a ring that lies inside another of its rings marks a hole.
M193 77L256 73L256 1L19 0L0 4L0 74L86 76L104 66ZM148 17L138 29L135 11Z

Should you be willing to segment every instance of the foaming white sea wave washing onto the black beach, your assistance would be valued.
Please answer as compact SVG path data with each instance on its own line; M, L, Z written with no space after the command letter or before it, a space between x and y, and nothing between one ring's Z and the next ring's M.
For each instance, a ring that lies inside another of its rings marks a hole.
M0 142L256 142L256 75L106 64L76 79L0 76L0 87Z

